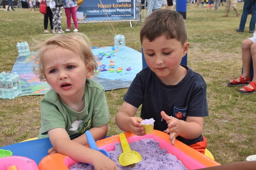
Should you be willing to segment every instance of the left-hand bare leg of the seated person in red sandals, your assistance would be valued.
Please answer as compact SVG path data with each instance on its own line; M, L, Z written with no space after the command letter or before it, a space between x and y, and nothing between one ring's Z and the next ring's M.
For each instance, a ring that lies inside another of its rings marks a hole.
M250 65L251 65L251 46L253 45L253 42L250 39L245 39L242 42L242 61L243 61L243 74L242 76L247 79L250 76ZM256 58L255 58L256 60ZM236 79L237 82L240 82L240 79ZM232 83L232 81L229 81Z

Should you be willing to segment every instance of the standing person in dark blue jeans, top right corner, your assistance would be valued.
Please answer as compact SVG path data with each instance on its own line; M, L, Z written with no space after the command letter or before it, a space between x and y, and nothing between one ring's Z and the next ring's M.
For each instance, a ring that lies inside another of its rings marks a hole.
M243 13L240 20L239 28L236 29L238 32L244 32L247 16L251 9L251 21L249 25L249 33L254 33L255 23L256 23L256 0L246 0L244 1Z

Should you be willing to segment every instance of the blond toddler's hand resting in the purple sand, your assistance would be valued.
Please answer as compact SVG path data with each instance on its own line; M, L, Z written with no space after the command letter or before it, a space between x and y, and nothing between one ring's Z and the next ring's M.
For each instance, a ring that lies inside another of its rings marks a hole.
M100 154L94 160L93 166L95 170L118 170L116 163L103 154Z

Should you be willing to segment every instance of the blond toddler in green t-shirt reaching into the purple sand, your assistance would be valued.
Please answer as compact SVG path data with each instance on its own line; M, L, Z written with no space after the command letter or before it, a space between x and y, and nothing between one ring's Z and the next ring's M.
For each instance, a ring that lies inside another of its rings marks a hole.
M41 100L38 137L49 136L53 148L48 153L67 155L95 169L118 169L104 154L85 147L85 131L95 140L103 139L110 119L104 88L87 79L97 69L88 37L82 33L55 35L39 41L35 48L38 64L33 71L52 87Z

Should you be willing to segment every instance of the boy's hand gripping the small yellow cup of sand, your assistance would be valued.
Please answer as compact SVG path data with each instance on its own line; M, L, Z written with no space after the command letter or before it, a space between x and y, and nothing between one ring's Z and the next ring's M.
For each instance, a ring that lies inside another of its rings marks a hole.
M143 136L145 135L144 127L141 126L140 122L143 119L141 117L130 117L129 120L129 129L132 133L136 134L137 136Z

